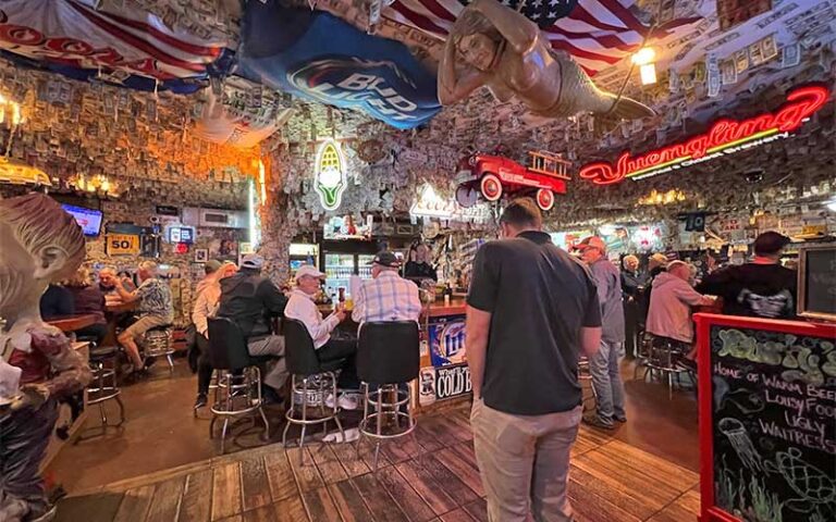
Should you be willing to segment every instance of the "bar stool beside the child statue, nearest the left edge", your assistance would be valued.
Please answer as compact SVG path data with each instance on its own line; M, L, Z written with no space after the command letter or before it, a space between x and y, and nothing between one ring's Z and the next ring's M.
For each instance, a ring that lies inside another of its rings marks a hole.
M84 339L79 338L79 340ZM87 406L93 407L98 405L99 419L101 420L99 426L101 427L100 435L103 436L107 433L108 427L120 428L125 422L125 406L122 403L122 397L120 397L122 390L119 389L119 384L116 382L116 359L119 349L115 346L99 347L96 346L96 343L93 340L88 341L90 343L88 364L90 366L90 372L93 373L93 380L87 386ZM116 406L119 406L119 422L116 424L110 424L108 422L108 413L104 409L104 405L109 400L115 401ZM85 427L85 431L93 428L95 428L95 426ZM76 438L75 444L95 436L96 435L79 436Z

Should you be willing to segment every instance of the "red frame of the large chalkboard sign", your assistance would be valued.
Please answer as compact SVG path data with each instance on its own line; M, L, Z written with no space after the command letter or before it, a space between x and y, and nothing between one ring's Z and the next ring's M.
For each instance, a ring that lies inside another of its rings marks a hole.
M697 322L697 344L700 361L711 361L711 328L727 326L733 328L759 330L787 333L798 336L836 338L836 324L776 321L767 319L694 314ZM712 386L712 364L701 363L699 378L699 421L700 421L700 522L741 522L732 513L715 504L714 496L714 390Z

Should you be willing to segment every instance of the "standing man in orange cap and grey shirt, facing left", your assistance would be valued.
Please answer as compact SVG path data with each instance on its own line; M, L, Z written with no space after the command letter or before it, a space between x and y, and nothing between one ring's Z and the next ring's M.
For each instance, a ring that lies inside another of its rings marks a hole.
M618 361L624 356L624 306L618 269L606 259L606 244L590 236L578 246L581 258L589 265L598 285L601 303L601 349L589 358L589 372L595 388L595 412L583 417L583 422L604 430L615 428L613 421L626 422L624 384Z

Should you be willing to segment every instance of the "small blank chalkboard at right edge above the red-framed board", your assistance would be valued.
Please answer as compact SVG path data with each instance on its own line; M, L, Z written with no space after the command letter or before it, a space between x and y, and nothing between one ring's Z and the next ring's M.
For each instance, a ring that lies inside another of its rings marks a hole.
M799 251L799 315L836 320L836 244Z

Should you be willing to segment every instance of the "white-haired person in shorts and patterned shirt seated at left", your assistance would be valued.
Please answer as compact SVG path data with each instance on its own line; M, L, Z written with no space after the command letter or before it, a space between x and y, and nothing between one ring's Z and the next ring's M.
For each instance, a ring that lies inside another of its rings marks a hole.
M134 291L127 291L122 285L116 285L116 293L124 302L139 301L137 307L139 319L125 328L118 339L131 357L134 372L145 373L150 365L150 361L144 361L139 356L136 338L151 328L171 324L174 321L171 289L157 276L157 263L143 261L137 271L142 284Z

